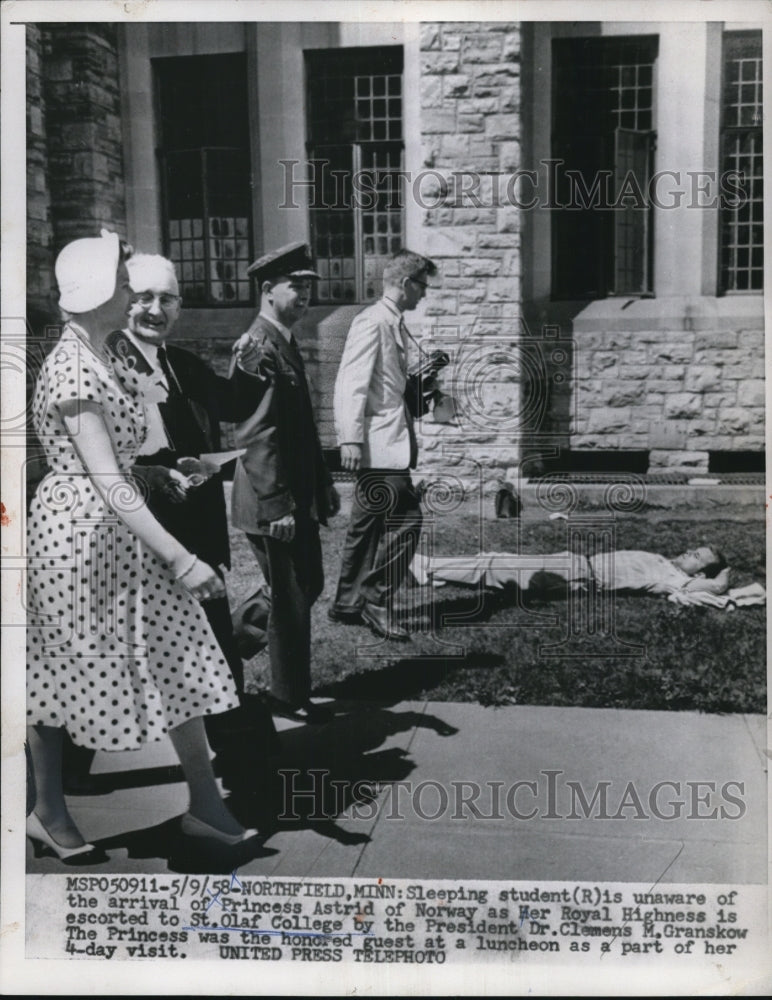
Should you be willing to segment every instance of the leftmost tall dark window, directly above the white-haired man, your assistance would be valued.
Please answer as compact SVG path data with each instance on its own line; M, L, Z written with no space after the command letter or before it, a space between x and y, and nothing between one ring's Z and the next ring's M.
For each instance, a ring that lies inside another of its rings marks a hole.
M188 305L251 301L251 173L243 53L154 60L164 249Z

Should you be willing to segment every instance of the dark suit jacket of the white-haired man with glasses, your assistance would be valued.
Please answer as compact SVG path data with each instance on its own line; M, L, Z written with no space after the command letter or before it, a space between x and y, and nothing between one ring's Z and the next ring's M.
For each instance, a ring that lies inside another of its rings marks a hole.
M178 458L198 458L220 449L220 421L232 422L243 415L228 379L216 375L183 348L166 345L169 364L183 392L159 404L166 433L173 445L155 455L140 455L138 465L174 468ZM157 491L148 506L161 524L191 552L211 566L230 566L228 522L222 478L213 476L191 490L183 503L172 503Z

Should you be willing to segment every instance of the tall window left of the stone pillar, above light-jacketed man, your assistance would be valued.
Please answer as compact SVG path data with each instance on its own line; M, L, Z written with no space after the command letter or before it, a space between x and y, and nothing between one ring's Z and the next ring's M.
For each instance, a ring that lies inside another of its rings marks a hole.
M319 302L380 294L402 246L402 49L306 53L311 243Z

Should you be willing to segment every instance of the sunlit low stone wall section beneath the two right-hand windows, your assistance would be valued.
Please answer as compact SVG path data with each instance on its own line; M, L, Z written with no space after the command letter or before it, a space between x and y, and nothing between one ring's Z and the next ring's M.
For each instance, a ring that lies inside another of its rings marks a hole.
M762 317L690 325L576 334L572 449L648 451L652 472L763 451Z

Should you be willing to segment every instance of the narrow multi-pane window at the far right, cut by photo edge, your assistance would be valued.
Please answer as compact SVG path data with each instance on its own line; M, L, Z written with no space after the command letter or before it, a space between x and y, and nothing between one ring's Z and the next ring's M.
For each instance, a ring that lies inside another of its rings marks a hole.
M720 287L760 291L764 279L761 32L724 35L721 169L742 175L740 197L721 209Z

